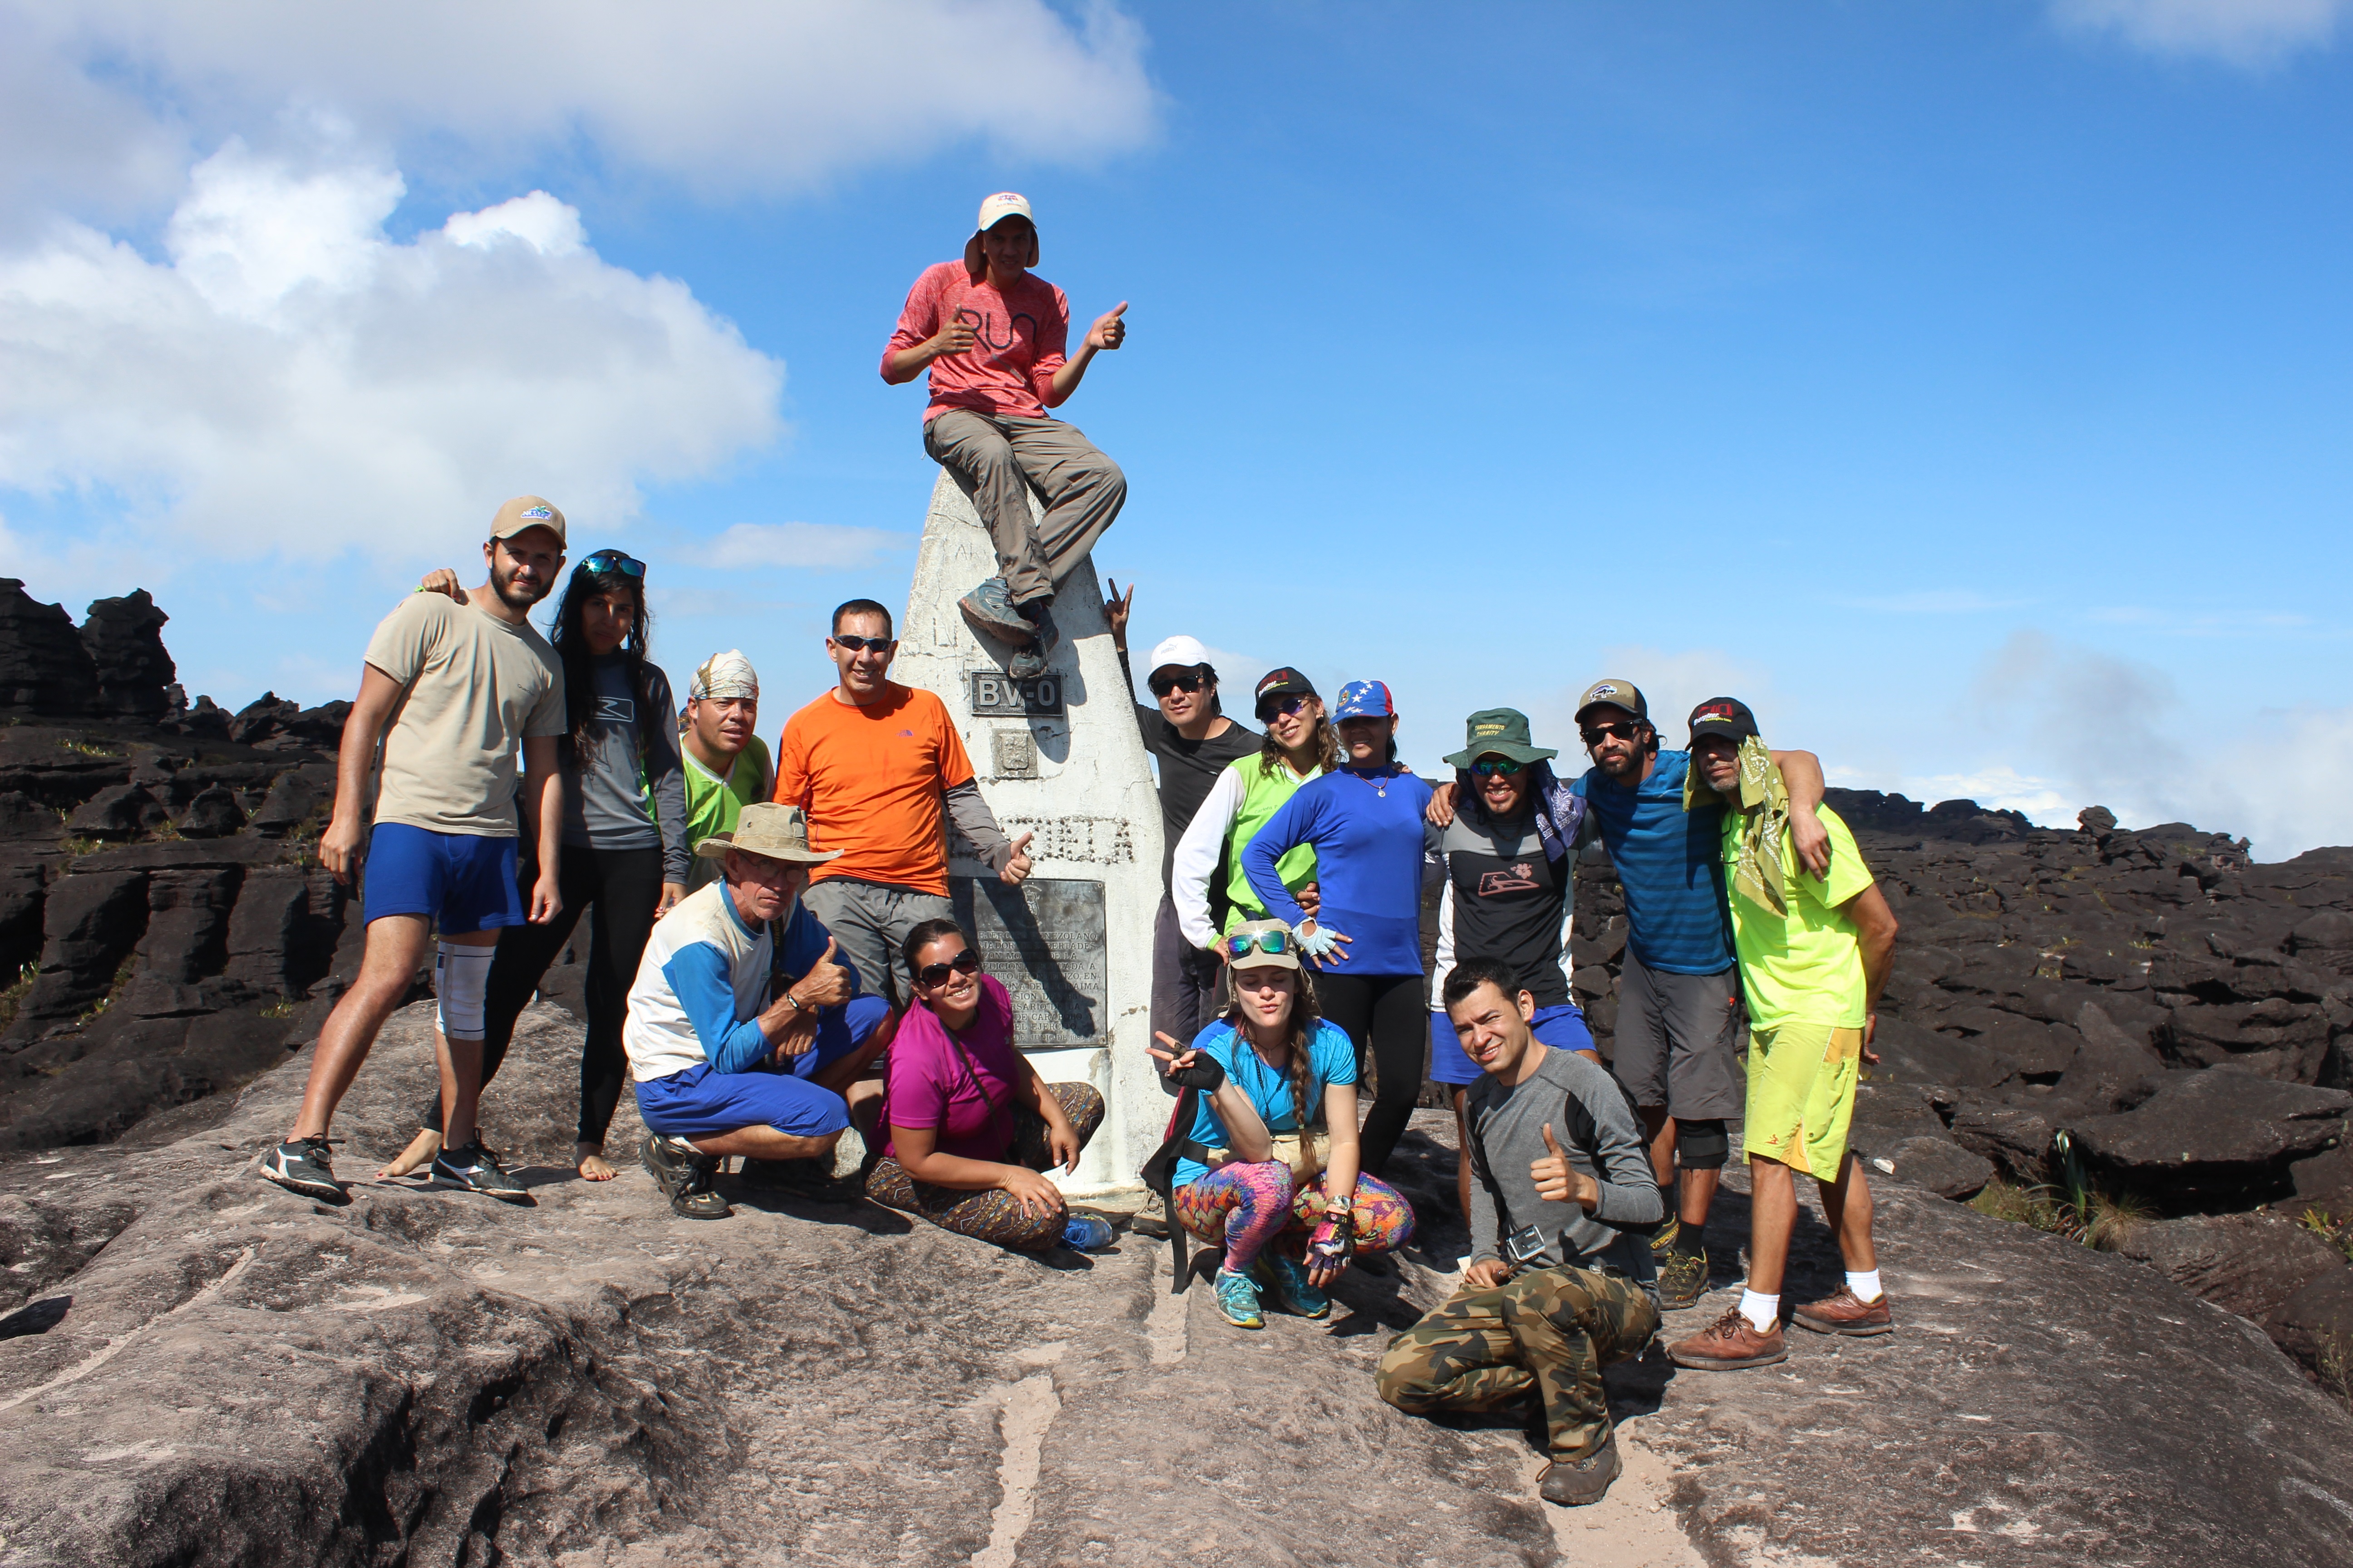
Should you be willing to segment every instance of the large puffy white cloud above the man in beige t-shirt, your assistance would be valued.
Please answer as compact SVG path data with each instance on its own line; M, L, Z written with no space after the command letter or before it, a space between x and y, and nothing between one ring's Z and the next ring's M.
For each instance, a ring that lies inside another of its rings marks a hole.
M779 437L784 367L574 209L534 190L395 244L400 195L332 139L231 141L160 261L80 223L0 254L0 487L120 494L134 534L226 555L414 559L515 491L609 529L640 480Z

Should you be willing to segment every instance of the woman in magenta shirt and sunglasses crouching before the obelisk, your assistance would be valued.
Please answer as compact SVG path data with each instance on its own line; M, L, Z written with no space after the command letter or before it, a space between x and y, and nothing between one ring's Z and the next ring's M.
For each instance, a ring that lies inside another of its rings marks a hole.
M1078 1168L1104 1121L1092 1084L1047 1084L1014 1051L1014 1004L953 919L906 933L915 997L892 1039L882 1159L866 1197L941 1229L1042 1251L1068 1222L1049 1166Z

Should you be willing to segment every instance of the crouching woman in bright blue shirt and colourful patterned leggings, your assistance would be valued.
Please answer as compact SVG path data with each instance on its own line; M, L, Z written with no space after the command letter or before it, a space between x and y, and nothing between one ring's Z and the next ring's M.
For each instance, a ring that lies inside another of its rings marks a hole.
M1252 919L1217 940L1233 1004L1191 1048L1160 1034L1167 1077L1200 1091L1179 1150L1176 1222L1226 1248L1217 1307L1264 1328L1259 1291L1299 1316L1325 1316L1325 1286L1353 1253L1388 1253L1414 1234L1414 1208L1358 1173L1355 1048L1315 1016L1292 929ZM1313 1112L1301 1128L1299 1107Z

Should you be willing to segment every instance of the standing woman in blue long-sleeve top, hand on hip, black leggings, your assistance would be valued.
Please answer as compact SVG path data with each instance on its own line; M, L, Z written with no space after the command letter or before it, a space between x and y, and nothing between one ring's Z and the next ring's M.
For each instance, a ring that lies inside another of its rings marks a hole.
M1332 710L1341 766L1299 785L1242 849L1266 910L1292 924L1315 964L1322 1016L1348 1032L1358 1063L1379 1067L1365 1117L1365 1171L1379 1175L1421 1095L1421 809L1431 788L1398 762L1398 708L1381 682L1348 682ZM1275 860L1315 846L1322 905L1299 907Z

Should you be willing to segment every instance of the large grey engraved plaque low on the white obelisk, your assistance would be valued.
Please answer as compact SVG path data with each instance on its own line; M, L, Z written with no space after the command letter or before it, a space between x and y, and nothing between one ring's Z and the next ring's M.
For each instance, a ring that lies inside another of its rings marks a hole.
M1031 877L948 877L955 922L1014 999L1014 1046L1064 1051L1108 1044L1104 884Z

